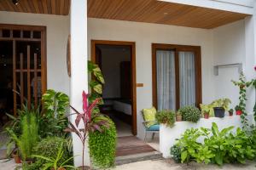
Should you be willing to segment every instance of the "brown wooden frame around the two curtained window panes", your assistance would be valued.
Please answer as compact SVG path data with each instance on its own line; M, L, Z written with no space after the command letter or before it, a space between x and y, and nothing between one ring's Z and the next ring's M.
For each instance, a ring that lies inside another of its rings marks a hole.
M176 45L165 43L152 43L152 99L153 105L157 109L157 73L156 73L156 51L173 50L175 52L175 90L176 90L176 110L180 108L180 87L179 87L179 57L178 52L195 53L195 106L199 107L202 100L201 93L201 46Z

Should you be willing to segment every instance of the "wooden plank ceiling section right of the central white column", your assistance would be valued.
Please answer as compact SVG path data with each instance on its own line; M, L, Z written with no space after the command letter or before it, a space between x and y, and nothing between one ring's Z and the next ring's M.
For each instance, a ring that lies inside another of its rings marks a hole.
M88 0L88 17L211 29L247 14L156 0Z

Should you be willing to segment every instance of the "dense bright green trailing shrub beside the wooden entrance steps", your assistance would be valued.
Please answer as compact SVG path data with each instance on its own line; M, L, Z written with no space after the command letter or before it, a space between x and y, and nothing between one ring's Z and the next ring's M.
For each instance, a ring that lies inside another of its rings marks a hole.
M90 158L93 165L100 168L113 167L116 147L116 128L111 119L109 127L101 127L103 132L89 133Z

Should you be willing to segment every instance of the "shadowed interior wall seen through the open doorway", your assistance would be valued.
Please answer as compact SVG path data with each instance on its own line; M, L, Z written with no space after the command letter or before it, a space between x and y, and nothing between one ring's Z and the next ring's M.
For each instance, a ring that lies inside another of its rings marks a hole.
M102 73L105 79L103 98L120 98L120 63L130 61L127 48L102 48Z

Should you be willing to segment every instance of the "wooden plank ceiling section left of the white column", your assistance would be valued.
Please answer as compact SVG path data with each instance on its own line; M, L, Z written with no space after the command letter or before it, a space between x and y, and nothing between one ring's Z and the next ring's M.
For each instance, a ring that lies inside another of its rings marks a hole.
M0 11L34 14L69 14L70 0L20 0L15 5L12 0L0 0Z

